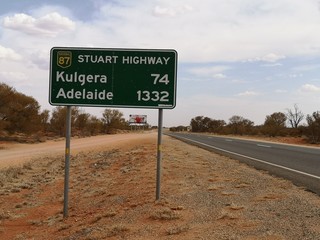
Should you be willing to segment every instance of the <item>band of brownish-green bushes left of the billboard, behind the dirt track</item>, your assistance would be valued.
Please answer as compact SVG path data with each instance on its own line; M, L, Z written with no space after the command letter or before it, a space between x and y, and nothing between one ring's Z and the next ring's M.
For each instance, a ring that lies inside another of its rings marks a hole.
M51 112L41 110L35 98L0 83L0 140L32 142L63 137L65 125L65 107L56 107ZM123 113L116 109L105 109L98 118L79 107L72 107L71 126L75 136L112 134L130 129Z

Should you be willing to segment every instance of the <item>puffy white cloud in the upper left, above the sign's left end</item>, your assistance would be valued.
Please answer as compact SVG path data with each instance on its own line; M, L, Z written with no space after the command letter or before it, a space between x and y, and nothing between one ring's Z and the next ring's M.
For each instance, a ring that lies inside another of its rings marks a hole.
M75 23L57 12L39 18L19 13L11 17L5 17L3 26L30 35L55 37L60 32L73 30Z

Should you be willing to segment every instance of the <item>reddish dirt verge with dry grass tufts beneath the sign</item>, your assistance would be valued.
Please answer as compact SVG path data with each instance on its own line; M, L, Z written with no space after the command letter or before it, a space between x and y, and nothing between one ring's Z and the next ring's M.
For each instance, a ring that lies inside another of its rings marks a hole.
M65 219L64 156L2 170L0 239L320 239L318 196L168 137L155 201L155 149L74 154Z

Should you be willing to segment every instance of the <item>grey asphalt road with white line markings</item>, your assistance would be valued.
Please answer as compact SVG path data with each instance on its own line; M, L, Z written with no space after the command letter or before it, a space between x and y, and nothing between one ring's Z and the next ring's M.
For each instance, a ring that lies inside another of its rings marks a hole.
M291 180L320 195L320 149L205 134L167 133Z

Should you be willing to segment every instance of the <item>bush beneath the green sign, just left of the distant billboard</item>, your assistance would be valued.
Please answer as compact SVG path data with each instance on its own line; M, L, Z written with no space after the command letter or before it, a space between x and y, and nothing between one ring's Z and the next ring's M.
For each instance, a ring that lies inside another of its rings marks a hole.
M101 119L106 133L113 133L115 129L126 129L127 123L123 113L116 109L105 109Z

